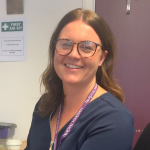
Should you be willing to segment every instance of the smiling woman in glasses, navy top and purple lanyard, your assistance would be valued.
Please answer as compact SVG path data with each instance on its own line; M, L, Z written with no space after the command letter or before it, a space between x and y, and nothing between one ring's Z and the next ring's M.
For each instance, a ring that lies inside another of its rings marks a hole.
M96 13L75 9L54 31L45 94L25 150L130 150L133 116L113 79L114 37Z

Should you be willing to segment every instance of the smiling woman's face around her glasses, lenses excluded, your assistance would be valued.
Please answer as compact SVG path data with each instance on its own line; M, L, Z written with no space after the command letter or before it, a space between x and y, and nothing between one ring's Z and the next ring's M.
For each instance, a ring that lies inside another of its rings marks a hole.
M93 41L101 45L101 41L94 29L81 20L67 24L60 32L58 39L69 39L73 43ZM102 52L98 46L92 57L82 57L75 44L70 54L61 56L55 51L54 68L63 84L90 84L96 81L96 72L102 65L107 51ZM77 66L77 67L76 67Z

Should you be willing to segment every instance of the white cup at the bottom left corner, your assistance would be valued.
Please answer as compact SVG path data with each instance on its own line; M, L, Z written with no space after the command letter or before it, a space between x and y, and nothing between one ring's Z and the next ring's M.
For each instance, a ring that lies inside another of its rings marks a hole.
M20 140L7 140L7 150L20 150L22 142Z

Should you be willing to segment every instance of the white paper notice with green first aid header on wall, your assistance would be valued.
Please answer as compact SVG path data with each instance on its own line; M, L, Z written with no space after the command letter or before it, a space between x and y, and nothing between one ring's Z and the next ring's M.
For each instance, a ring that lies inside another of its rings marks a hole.
M0 26L0 61L25 61L27 57L26 19L1 19Z

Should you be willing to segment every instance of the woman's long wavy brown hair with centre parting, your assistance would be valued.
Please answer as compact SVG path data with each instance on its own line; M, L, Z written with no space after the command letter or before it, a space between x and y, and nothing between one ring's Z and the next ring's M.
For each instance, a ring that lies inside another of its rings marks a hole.
M78 8L70 11L61 19L50 40L49 63L41 78L41 84L45 87L45 93L42 95L39 105L39 114L42 117L49 116L52 110L56 108L64 99L62 81L54 69L54 41L57 40L60 31L66 24L79 19L95 30L102 42L102 50L108 51L102 66L97 70L97 84L112 93L120 101L124 102L122 89L113 78L113 69L117 51L115 38L109 26L102 17L90 10Z

